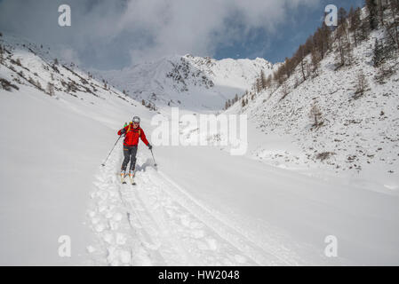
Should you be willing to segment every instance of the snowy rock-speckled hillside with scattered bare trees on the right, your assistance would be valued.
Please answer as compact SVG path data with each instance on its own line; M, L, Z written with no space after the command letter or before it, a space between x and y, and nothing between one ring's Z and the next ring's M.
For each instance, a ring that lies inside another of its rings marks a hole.
M353 36L353 35L351 35ZM240 99L227 113L248 114L269 139L253 149L259 161L299 170L308 175L349 176L348 182L377 191L399 190L399 57L373 67L376 38L371 32L357 47L352 43L351 66L336 68L334 43L320 63L318 75L301 83L300 65L281 87ZM311 62L310 55L305 59ZM356 95L359 76L365 77L363 96ZM315 127L316 106L319 124ZM325 171L325 172L323 172Z

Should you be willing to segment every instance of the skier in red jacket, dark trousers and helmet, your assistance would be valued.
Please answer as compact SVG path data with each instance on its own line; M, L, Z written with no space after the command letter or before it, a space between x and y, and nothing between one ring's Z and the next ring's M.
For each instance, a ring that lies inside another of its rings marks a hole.
M152 146L148 143L146 134L140 128L140 117L134 116L132 122L125 126L122 130L118 131L118 135L124 137L124 162L122 163L121 176L126 175L126 168L129 161L131 162L129 176L133 177L134 170L136 168L136 154L137 146L139 145L139 138L148 146L148 149L152 149Z

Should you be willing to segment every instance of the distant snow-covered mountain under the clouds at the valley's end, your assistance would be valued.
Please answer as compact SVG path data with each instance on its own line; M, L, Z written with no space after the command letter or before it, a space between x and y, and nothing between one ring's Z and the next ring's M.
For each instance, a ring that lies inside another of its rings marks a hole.
M92 71L133 98L156 107L180 106L206 111L219 110L252 84L260 71L272 73L265 59L211 59L192 55L173 56L123 70Z

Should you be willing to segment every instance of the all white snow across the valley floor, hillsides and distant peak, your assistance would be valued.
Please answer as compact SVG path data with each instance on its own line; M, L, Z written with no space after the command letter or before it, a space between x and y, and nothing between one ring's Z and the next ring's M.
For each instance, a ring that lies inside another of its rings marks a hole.
M393 160L380 160L395 153L395 142L386 142L376 154L379 162L367 166L365 157L356 161L361 173L342 162L356 146L374 154L384 140L376 135L379 131L397 135L397 75L383 86L372 84L373 92L348 103L346 90L355 71L334 73L326 59L322 75L282 102L278 91L267 103L269 94L264 93L244 109L237 104L227 111L250 117L247 154L233 156L229 147L220 146L155 146L155 167L140 144L137 185L122 185L121 143L100 166L116 141L116 130L140 115L151 140L151 118L158 114L135 99L159 91L153 101L170 117L167 102L191 96L181 100L180 114L207 114L238 89L251 88L259 68L271 72L274 67L263 59L217 61L187 55L133 67L131 73L108 73L114 75L111 82L132 78L126 81L132 99L77 67L64 63L55 72L51 54L35 55L14 38L3 38L4 43L12 53L6 65L15 72L0 65L0 77L19 90L0 90L0 264L398 264L397 173L370 174L397 168ZM359 47L358 54L367 54L365 50L367 45ZM21 67L11 59L20 59ZM171 61L188 66L189 75L199 74L184 80L188 91L179 91L184 83L166 77ZM371 72L367 60L359 59L356 68ZM52 82L54 96L17 75L21 70L44 88ZM76 91L68 90L67 82L75 82ZM132 91L139 92L135 96ZM390 94L379 96L384 92ZM335 122L318 132L308 129L313 98ZM381 107L386 119L377 116ZM360 122L345 125L350 120ZM188 139L203 135L180 131ZM331 131L354 134L340 137L346 151L336 149ZM336 152L333 162L346 171L311 162L310 146ZM71 257L58 255L61 235L71 237ZM324 254L331 235L338 240L338 257Z

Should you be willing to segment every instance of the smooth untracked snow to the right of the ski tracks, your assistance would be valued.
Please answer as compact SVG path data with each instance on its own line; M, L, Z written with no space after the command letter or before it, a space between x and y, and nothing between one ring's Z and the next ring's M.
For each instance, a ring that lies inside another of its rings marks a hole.
M258 143L258 134L252 135L252 144ZM348 186L339 179L326 183L214 148L169 148L168 155L170 151L180 158L160 159L166 174L179 180L195 200L217 209L212 215L243 233L247 242L254 241L257 252L283 258L270 262L273 258L267 257L258 264L397 261L397 197ZM195 166L190 167L193 161ZM339 239L340 259L323 256L323 240L330 234Z

